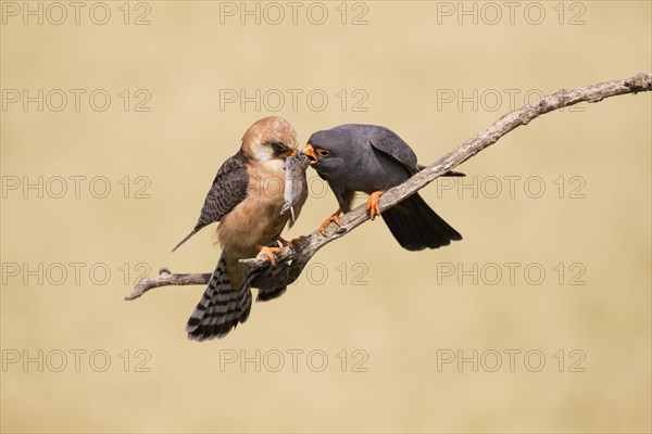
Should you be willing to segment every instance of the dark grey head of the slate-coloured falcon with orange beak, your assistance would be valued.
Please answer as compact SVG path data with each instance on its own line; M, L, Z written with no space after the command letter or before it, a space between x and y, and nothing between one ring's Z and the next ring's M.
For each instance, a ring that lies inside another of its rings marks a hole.
M313 133L301 153L309 157L310 165L319 175L337 177L351 170L355 165L355 150L350 138L338 131L324 130Z

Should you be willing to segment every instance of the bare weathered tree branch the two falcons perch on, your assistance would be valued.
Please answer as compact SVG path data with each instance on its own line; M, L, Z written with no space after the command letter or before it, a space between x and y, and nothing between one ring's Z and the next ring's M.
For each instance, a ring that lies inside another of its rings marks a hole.
M641 73L626 79L605 81L582 88L562 89L553 94L543 97L534 103L507 113L487 129L466 140L405 182L387 190L380 196L380 210L383 212L392 207L403 199L432 182L446 171L492 145L514 128L527 125L530 120L546 113L580 102L593 103L602 101L605 98L651 90L652 74ZM277 258L277 265L273 275L264 272L265 269L269 269L267 267L269 263L267 257L241 259L240 261L249 265L254 270L261 270L262 275L252 283L254 288L278 288L289 284L301 275L303 268L319 248L351 232L367 219L368 214L365 212L364 205L361 205L340 218L341 226L339 228L330 225L326 237L316 230L309 237L301 238L291 247L284 247ZM162 269L158 277L141 279L125 299L137 298L147 291L158 286L170 284L208 284L210 277L211 273L172 275L166 269Z

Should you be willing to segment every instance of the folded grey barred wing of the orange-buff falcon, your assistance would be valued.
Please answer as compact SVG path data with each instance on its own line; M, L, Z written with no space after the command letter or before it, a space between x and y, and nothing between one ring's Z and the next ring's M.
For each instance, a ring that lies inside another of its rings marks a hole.
M209 193L206 194L195 229L192 229L192 232L172 250L173 252L176 251L179 245L188 241L190 237L199 232L204 226L214 221L220 221L223 216L228 214L236 205L247 197L249 176L247 175L247 167L244 166L246 162L247 157L242 151L224 162L220 167L220 170L217 170L211 190L209 190Z

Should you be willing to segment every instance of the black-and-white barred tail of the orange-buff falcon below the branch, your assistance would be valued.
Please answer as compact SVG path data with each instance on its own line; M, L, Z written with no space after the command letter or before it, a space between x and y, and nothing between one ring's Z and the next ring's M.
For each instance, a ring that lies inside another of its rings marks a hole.
M205 341L224 337L239 322L247 321L251 310L250 285L254 277L250 273L240 288L234 289L226 272L226 260L224 256L220 257L209 286L186 326L188 339Z

